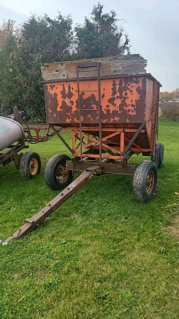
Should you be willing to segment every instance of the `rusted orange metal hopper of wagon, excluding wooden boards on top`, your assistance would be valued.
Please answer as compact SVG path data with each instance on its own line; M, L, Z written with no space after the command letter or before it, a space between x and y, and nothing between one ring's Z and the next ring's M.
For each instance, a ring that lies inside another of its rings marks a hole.
M124 152L129 139L141 127L132 150L152 152L158 82L150 74L145 74L101 79L100 88L102 142L103 138L106 145L108 140L110 144L113 142L115 152L117 150L119 154L118 151ZM81 122L83 135L98 136L98 80L83 80L80 90L78 98L77 81L45 83L47 123L78 133ZM73 150L76 151L75 147Z

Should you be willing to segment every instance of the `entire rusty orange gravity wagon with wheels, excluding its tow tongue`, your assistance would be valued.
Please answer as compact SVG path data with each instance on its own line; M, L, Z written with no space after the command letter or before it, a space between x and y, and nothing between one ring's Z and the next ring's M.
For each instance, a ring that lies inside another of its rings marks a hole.
M72 146L59 135L71 158L55 155L47 163L50 188L67 186L75 171L95 169L134 175L133 195L139 201L154 196L156 167L163 164L163 144L156 142L161 84L145 66L139 55L42 65L47 123L72 135ZM139 153L151 160L129 165Z

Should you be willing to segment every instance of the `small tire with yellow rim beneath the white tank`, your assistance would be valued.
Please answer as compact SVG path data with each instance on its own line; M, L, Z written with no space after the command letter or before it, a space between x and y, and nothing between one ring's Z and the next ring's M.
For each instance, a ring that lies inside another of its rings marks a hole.
M33 179L40 173L41 160L35 152L23 154L20 162L20 174L23 179Z

